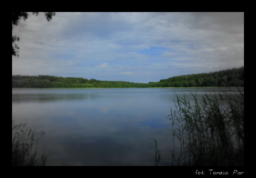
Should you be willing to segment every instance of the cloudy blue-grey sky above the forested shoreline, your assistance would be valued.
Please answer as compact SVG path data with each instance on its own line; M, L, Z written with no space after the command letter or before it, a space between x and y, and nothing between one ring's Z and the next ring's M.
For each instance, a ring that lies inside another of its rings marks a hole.
M148 83L244 66L243 12L28 14L12 75Z

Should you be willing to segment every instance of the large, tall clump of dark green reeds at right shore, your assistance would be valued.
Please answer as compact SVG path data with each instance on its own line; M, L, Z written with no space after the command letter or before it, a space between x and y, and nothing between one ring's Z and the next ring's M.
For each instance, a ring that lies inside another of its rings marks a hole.
M191 93L192 94L192 93ZM174 101L172 165L244 165L244 93L186 95Z

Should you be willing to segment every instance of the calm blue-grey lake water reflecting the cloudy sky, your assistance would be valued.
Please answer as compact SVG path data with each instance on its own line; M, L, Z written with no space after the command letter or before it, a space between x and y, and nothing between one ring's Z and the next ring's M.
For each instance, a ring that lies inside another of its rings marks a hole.
M236 93L236 89L225 89ZM175 94L197 97L223 89L102 88L12 89L12 120L36 129L46 165L170 165Z

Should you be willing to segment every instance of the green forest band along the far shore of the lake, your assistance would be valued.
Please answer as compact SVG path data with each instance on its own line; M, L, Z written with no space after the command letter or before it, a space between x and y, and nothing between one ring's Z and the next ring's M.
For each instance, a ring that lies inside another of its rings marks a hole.
M243 87L244 67L218 72L174 76L158 82L100 81L52 75L12 75L12 88L145 88L145 87Z

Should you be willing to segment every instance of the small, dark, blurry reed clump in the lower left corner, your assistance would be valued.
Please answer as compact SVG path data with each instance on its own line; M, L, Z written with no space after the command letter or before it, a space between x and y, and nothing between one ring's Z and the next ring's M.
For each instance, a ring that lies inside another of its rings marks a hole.
M46 155L38 156L36 130L27 129L27 124L12 125L12 166L45 166Z

